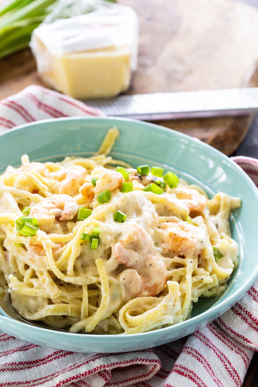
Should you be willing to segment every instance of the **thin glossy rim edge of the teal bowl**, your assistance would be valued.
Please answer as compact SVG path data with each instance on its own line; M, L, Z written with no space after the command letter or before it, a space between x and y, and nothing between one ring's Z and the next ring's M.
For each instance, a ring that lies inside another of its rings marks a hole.
M185 138L188 141L190 140L190 142L195 142L200 147L210 149L210 151L212 151L214 155L218 156L222 160L227 161L227 163L229 163L240 174L240 176L242 176L246 181L248 181L249 186L254 189L255 196L257 197L257 201L258 201L258 190L257 190L255 183L251 180L251 178L249 178L249 176L243 171L243 169L239 165L237 165L234 161L231 160L231 158L229 158L228 156L226 156L225 154L223 154L219 150L215 149L214 147L210 146L209 144L202 142L201 140L197 139L196 137L191 137L187 134L184 134L184 133L178 132L176 130L166 128L166 127L163 127L162 125L157 125L154 123L135 120L132 118L113 117L113 116L106 116L106 117L105 116L104 117L103 116L94 116L94 117L93 116L74 116L74 117L49 118L46 120L38 120L38 121L34 121L34 122L24 123L22 125L19 125L15 128L10 129L10 130L6 130L0 134L0 138L2 136L9 137L9 135L11 135L12 133L15 133L16 131L21 130L22 128L28 128L28 130L29 130L30 127L41 125L44 123L46 123L48 125L50 123L53 124L53 122L60 122L60 121L61 122L62 121L75 121L75 122L78 121L79 122L79 121L103 121L103 120L107 121L107 122L116 121L118 123L119 122L137 123L138 125L143 125L145 127L151 127L153 129L158 129L158 130L161 130L163 132L167 132L169 134L175 135L177 138ZM54 155L53 155L53 157L54 157ZM228 295L225 300L221 300L218 303L216 303L215 305L209 307L204 312L202 312L194 317L190 317L189 319L184 320L184 321L182 321L178 324L175 324L175 325L171 325L171 326L164 327L162 329L157 329L154 331L147 331L147 332L134 333L134 334L128 334L128 335L126 335L124 333L117 334L117 335L76 333L76 337L80 337L81 339L82 339L82 337L84 337L85 339L87 338L87 340L89 340L89 342L91 342L91 341L96 340L97 338L107 338L107 337L112 337L112 340L114 340L114 341L120 341L121 337L123 336L125 338L127 337L127 339L125 339L125 340L129 341L130 338L133 338L133 337L140 338L143 335L144 335L144 337L147 337L150 335L152 336L155 333L160 332L160 331L164 332L164 334L165 334L166 332L169 333L170 330L183 330L187 326L201 324L203 322L203 320L208 320L210 322L210 321L213 321L214 319L216 319L219 315L226 312L226 310L228 310L237 300L239 300L239 298L241 296L243 296L244 293L253 285L253 283L255 282L255 280L257 278L258 278L258 266L256 268L254 268L252 274L249 276L248 281L244 282L243 284L240 282L237 290L233 294ZM212 316L215 316L215 317L212 317ZM24 323L16 321L16 320L12 319L11 317L5 317L5 316L0 314L0 321L2 318L4 321L5 320L11 321L12 324L15 324L15 325L22 324L22 326L24 326ZM27 327L32 327L32 326L27 325ZM49 331L49 329L40 328L40 327L33 326L32 328L39 329L39 330L43 329L44 331ZM59 331L51 331L51 332L55 332L55 334L58 334L58 336L61 335L60 337L62 337L63 335L67 335L67 334L72 333L72 332L59 332ZM71 335L71 337L72 337L72 335Z

